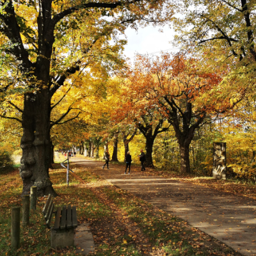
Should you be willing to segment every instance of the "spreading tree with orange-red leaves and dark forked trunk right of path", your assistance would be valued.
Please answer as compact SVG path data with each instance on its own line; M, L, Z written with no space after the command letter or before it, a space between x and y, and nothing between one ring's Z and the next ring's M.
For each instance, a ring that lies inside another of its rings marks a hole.
M218 113L232 109L243 92L238 88L238 92L229 95L222 92L221 72L205 73L202 67L200 60L181 53L173 58L163 54L161 59L138 56L129 74L140 99L147 99L173 126L182 173L190 172L189 145L195 129Z

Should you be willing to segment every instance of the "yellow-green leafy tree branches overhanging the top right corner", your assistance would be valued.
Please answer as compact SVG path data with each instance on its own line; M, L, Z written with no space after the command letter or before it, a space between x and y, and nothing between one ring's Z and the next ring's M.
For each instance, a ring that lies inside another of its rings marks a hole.
M175 19L177 44L187 49L193 45L207 53L212 64L228 63L228 76L244 76L246 86L255 79L254 1L182 0L176 10L182 13Z

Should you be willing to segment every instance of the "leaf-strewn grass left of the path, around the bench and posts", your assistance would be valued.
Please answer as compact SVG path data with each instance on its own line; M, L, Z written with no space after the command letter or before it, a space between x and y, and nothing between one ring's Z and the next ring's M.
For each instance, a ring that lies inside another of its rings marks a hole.
M90 223L96 246L94 255L239 255L185 221L111 186L93 175L92 170L74 165L72 169L69 186L66 171L60 164L54 164L50 170L59 195L54 198L54 204L77 206L79 223ZM22 206L19 172L0 175L0 185L0 255L77 255L73 247L51 248L50 231L42 216L44 196L38 198L29 226L21 225L19 250L11 250L11 209Z

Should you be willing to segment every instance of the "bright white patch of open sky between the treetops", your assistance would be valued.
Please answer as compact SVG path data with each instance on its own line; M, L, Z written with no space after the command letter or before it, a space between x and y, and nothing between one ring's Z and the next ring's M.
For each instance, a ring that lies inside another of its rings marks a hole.
M169 50L173 52L175 49L170 44L173 40L174 32L168 26L164 26L163 33L159 32L159 27L147 26L146 28L139 28L138 31L127 28L125 35L128 43L125 45L124 55L134 60L134 55L140 54L159 54L160 51ZM177 48L176 48L177 51Z

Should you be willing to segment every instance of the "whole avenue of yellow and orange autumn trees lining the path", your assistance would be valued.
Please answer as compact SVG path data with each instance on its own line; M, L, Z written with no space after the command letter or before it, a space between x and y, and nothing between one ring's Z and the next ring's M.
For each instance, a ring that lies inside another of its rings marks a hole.
M2 1L0 152L22 149L23 193L55 195L54 149L209 174L214 141L228 170L254 179L253 1ZM125 28L170 24L177 54L125 61ZM5 153L3 153L5 154ZM1 163L1 162L0 162Z

